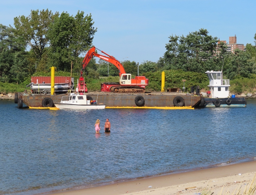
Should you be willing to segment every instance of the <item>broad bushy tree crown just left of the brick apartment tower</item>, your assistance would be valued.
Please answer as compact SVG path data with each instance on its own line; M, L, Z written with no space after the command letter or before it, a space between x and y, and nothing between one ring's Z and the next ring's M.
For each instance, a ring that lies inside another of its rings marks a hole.
M206 29L199 29L185 36L169 37L166 52L158 61L162 69L205 72L216 66L217 37L208 35Z

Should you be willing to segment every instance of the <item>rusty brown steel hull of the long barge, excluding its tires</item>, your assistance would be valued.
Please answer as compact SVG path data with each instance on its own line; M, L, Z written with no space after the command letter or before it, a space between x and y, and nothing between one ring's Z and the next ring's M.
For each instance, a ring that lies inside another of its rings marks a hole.
M19 93L19 98L22 99L23 104L28 107L42 107L42 100L45 97L50 97L53 103L60 103L61 97L65 94L49 95L49 94L22 94ZM200 96L192 96L187 93L137 93L137 94L118 94L106 92L89 92L86 94L91 96L97 103L105 104L106 107L174 107L173 99L176 96L181 96L184 99L186 107L195 107L200 103ZM141 95L145 101L143 105L136 105L135 97ZM24 106L25 106L24 105Z

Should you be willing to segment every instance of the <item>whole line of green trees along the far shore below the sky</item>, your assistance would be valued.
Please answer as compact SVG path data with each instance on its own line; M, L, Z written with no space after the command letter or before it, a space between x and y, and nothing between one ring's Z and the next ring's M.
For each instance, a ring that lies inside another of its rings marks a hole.
M36 73L49 72L52 66L58 71L70 72L71 62L72 72L78 75L96 32L92 15L79 10L75 16L48 9L31 10L29 16L15 17L13 27L0 24L0 82L22 83ZM225 43L209 35L206 29L168 38L166 51L157 62L140 63L140 75L164 70L176 70L171 71L173 74L223 70L228 79L256 77L255 45L246 44L246 51L236 49L231 53ZM256 34L254 39L256 43ZM135 61L121 63L127 73L137 75ZM96 62L93 58L84 77L100 76L119 76L119 72L114 65L104 60Z

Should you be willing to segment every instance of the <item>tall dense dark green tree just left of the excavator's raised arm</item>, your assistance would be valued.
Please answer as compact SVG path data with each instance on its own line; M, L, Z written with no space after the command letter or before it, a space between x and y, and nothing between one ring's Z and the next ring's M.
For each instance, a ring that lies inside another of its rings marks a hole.
M92 16L77 12L75 17L62 12L50 26L47 38L50 40L50 64L59 70L70 70L71 61L74 68L81 66L78 56L92 47L94 29Z

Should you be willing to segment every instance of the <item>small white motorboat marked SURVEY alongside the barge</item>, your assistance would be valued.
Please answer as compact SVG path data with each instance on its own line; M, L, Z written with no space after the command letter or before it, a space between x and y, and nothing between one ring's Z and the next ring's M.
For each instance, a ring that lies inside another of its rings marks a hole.
M104 109L105 104L90 104L90 100L86 99L86 95L74 94L62 96L60 103L54 103L59 109Z

